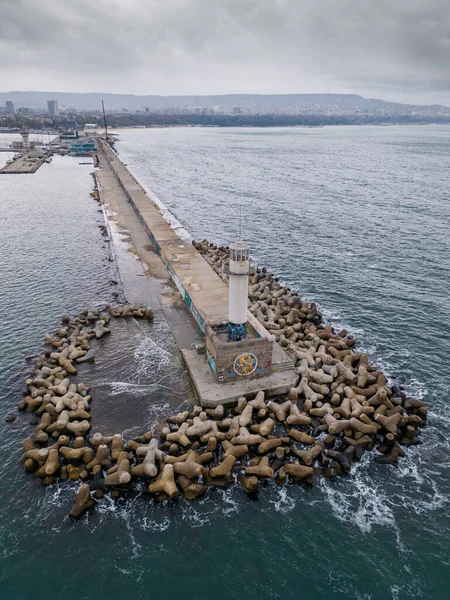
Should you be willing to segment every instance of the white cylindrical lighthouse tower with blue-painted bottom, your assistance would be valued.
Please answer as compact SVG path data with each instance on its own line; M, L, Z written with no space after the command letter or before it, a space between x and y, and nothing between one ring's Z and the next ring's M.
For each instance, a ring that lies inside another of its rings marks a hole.
M250 246L245 242L230 245L228 295L228 340L239 342L247 337L248 276L255 272L249 262Z

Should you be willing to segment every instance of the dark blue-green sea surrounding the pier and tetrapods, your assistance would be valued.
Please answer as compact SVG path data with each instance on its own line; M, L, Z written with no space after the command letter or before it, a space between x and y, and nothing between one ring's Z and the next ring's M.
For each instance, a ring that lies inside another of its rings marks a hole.
M29 418L4 417L61 313L114 300L114 267L92 167L55 157L0 175L0 597L447 599L450 127L118 135L120 157L195 239L234 240L241 214L259 263L429 402L429 423L398 466L367 453L346 478L269 485L258 501L238 488L175 507L136 495L70 522L76 484L44 488L17 467ZM104 411L134 398L145 430L183 401L169 397L182 367L163 323L130 327L86 376Z

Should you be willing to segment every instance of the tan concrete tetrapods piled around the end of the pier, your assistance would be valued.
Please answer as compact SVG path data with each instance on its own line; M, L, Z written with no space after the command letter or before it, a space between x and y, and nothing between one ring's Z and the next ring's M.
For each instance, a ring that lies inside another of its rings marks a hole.
M215 268L219 259L226 262L226 248L207 242L196 246ZM312 484L316 477L346 475L353 461L375 448L378 462L392 464L404 455L402 446L419 442L418 428L427 416L424 402L388 386L365 355L353 352L354 338L334 333L313 303L301 302L266 270L251 286L250 309L257 318L271 319L282 346L296 353L297 386L276 400L259 392L232 407L187 408L169 416L159 430L132 440L121 433L90 435L89 386L71 383L71 377L83 362L94 360L89 340L111 334L114 318L151 319L151 310L106 306L104 312L66 315L56 334L45 337L47 348L19 404L40 417L23 442L20 462L46 485L67 479L82 483L72 518L105 494L118 499L130 493L138 481L159 502L180 494L193 500L233 484L256 494L271 479L279 485ZM259 314L262 302L268 308ZM267 314L270 306L275 316Z

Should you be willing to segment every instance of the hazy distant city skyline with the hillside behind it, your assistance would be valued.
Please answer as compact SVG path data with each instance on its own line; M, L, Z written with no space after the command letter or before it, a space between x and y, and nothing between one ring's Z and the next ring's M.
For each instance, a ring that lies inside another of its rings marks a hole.
M103 101L108 112L116 113L450 116L450 107L445 105L396 103L357 94L139 96L20 91L0 92L0 114L14 113L15 107L19 112L45 112L52 118L61 111L62 115L77 111L95 113Z

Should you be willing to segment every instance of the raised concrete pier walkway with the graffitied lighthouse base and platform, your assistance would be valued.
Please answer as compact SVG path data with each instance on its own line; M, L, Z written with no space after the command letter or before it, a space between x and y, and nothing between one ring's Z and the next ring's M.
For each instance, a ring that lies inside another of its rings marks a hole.
M296 379L292 361L274 337L245 310L247 285L243 288L243 305L248 335L229 345L225 335L230 322L228 286L195 246L180 237L176 227L172 228L161 207L153 202L111 148L101 140L99 144L102 168L105 165L113 173L126 204L134 211L133 217L138 219L138 228L148 236L146 246L150 241L198 326L206 356L200 356L192 344L186 346L186 339L178 338L177 343L200 404L210 408L233 404L241 395L260 390L270 396L287 393ZM101 183L99 189L104 201ZM184 320L189 319L184 316ZM172 331L175 335L173 327ZM239 371L237 364L242 360L250 360L254 365L250 373ZM233 385L221 385L224 382Z

